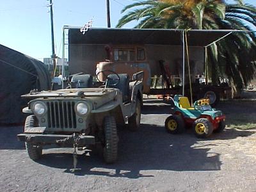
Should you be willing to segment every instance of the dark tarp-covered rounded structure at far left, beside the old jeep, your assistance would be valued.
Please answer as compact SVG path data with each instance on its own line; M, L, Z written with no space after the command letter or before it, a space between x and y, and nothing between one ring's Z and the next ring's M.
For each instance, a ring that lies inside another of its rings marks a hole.
M0 45L0 124L20 124L33 89L49 90L51 78L44 63Z

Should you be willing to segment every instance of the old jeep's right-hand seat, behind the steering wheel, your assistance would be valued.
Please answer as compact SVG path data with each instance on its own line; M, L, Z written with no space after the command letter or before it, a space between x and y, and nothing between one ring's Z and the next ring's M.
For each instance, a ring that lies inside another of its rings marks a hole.
M118 83L118 77L116 77L115 74L109 74L109 81L108 81L108 88L116 88L118 90L120 90L122 92L122 96L123 96L123 102L126 102L127 100L129 100L129 76L128 74L118 74L118 76L120 77L120 81ZM112 80L113 79L113 80ZM112 84L116 84L115 86L113 86Z

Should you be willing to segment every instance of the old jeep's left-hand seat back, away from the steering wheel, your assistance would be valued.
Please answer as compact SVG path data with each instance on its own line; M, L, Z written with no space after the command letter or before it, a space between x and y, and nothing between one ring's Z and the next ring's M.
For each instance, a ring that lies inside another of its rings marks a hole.
M71 79L71 88L92 88L93 79L92 75L76 75Z

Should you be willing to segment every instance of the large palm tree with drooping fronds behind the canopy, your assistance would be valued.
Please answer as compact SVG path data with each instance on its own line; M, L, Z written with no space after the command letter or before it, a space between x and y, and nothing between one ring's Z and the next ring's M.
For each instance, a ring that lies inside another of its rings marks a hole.
M135 1L122 10L127 12L116 27L137 20L135 28L172 29L239 29L253 31L256 27L256 8L237 0L144 0ZM232 88L239 92L256 69L256 34L232 33L207 49L212 82L227 76Z

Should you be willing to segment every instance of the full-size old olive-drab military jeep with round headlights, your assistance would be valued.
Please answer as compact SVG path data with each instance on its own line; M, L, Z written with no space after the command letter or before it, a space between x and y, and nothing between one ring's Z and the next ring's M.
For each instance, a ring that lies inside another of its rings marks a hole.
M136 131L140 126L143 72L132 76L100 71L106 81L93 88L91 75L75 75L71 87L56 91L31 92L22 97L31 98L22 111L31 113L26 118L24 133L31 159L39 159L44 145L56 144L86 148L100 144L106 163L115 163L118 150L116 124ZM98 82L99 83L99 82Z

